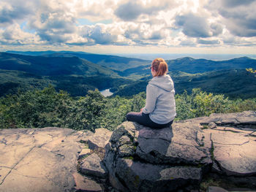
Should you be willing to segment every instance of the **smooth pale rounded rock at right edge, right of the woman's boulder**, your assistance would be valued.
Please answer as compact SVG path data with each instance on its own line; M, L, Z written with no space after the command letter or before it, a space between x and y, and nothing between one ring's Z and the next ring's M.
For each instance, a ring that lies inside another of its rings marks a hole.
M204 131L211 133L214 161L219 166L215 171L234 176L256 174L256 141L249 137L252 131L220 127Z

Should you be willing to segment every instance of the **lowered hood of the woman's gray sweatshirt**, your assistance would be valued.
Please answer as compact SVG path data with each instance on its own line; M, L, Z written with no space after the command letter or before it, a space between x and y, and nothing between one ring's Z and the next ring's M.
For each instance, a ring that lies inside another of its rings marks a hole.
M174 91L173 80L168 74L154 77L148 84L155 85L165 91Z

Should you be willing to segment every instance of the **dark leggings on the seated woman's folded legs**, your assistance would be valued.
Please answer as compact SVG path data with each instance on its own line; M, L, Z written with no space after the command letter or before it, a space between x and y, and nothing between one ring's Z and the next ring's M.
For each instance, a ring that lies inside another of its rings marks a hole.
M149 118L149 115L143 112L128 112L127 120L133 121L133 122L139 123L140 125L148 126L151 128L165 128L167 126L170 126L173 123L173 120L165 124L154 123L154 121L152 121Z

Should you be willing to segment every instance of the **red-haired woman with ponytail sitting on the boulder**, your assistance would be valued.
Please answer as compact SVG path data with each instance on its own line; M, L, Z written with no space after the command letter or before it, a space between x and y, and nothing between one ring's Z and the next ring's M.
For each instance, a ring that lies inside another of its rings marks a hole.
M167 69L163 58L154 59L151 64L153 79L146 88L146 106L140 112L129 112L127 120L151 128L164 128L173 123L176 116L175 91Z

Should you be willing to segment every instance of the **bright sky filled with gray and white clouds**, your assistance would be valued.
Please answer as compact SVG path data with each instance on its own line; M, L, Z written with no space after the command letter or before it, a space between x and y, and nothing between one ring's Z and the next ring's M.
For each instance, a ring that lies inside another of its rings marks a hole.
M1 0L0 51L256 54L256 0Z

